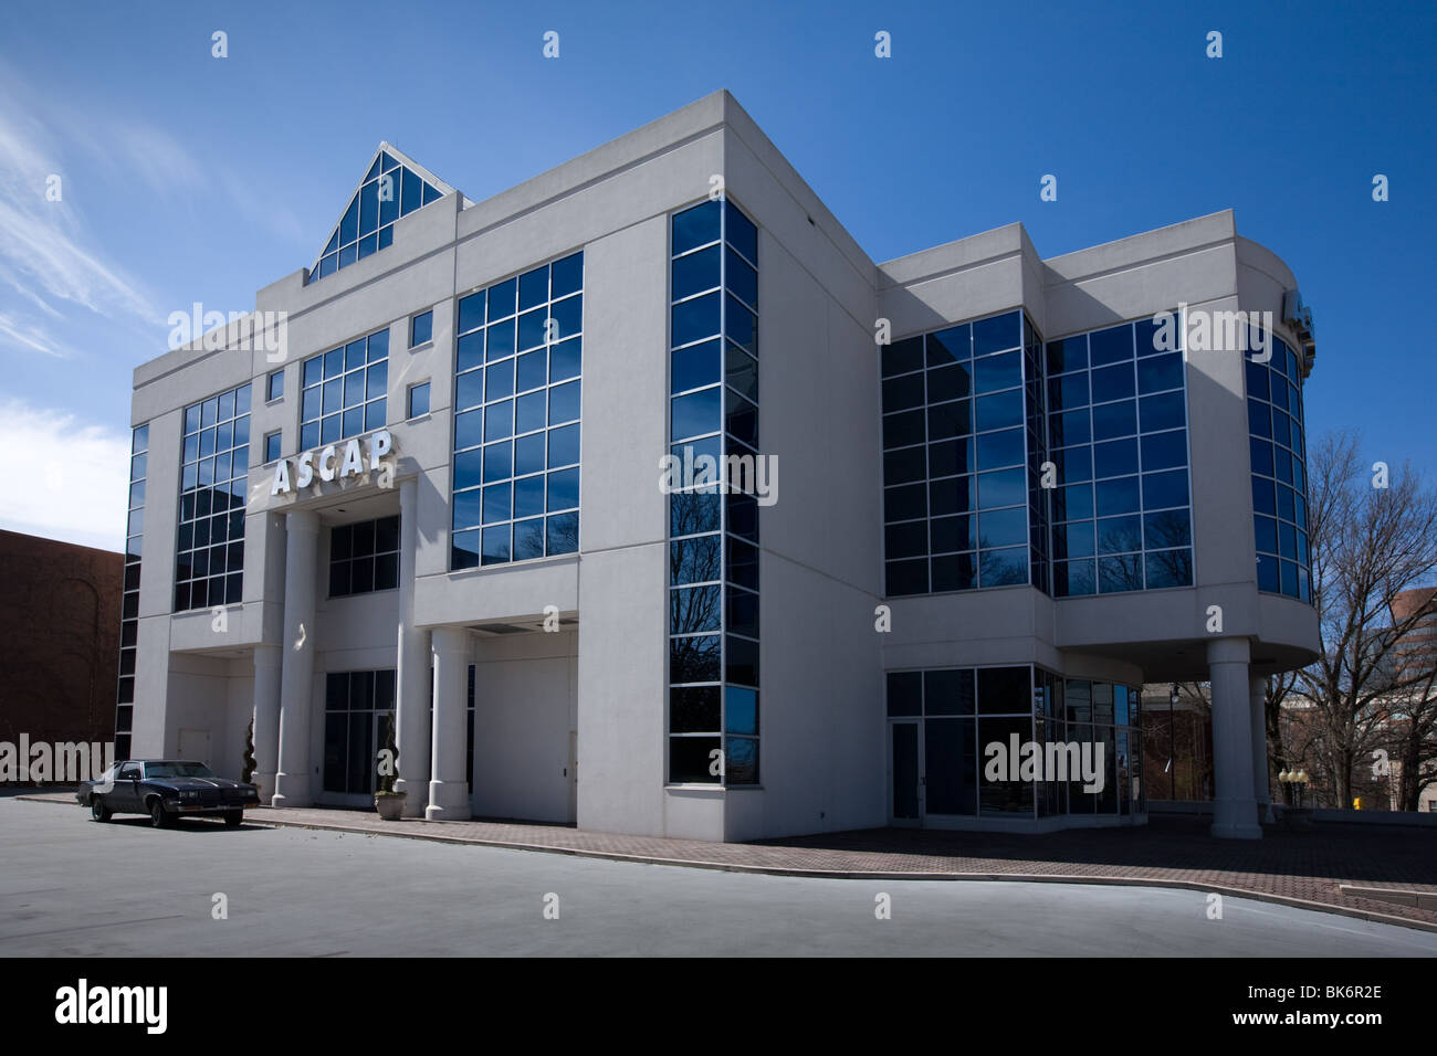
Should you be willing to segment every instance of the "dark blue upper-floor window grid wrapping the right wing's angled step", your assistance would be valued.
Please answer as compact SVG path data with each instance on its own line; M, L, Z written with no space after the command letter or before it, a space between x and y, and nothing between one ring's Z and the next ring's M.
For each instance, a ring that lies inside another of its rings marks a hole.
M1191 586L1186 363L1157 332L1045 345L1007 312L885 346L887 593Z

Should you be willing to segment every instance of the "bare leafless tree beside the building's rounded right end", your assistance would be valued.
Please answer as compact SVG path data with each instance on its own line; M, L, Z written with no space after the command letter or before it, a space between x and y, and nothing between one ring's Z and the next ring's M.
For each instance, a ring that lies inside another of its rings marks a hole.
M1408 464L1377 480L1348 431L1325 435L1309 453L1309 483L1321 657L1298 672L1315 710L1303 747L1331 779L1336 806L1351 807L1357 767L1390 738L1392 694L1424 678L1395 662L1421 609L1398 619L1392 601L1437 570L1437 494Z

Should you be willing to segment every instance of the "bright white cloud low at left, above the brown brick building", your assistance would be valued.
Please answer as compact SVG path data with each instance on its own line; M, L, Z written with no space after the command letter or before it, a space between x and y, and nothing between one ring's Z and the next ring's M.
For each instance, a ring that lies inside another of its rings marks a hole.
M0 527L121 550L129 490L129 437L73 414L0 401L0 448L23 451L24 486L0 491Z

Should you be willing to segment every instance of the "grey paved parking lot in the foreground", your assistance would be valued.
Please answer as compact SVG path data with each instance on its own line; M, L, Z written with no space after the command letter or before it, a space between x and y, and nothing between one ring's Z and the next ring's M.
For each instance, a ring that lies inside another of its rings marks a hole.
M0 799L0 955L1437 955L1196 891L764 876ZM879 920L879 895L891 915ZM220 912L223 907L224 912Z

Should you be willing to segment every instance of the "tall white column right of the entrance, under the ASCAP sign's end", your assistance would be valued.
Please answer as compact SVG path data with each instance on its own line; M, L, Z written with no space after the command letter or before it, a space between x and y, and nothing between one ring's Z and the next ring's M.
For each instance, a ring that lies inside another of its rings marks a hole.
M395 711L405 818L422 818L430 795L430 632L414 626L414 557L418 550L418 480L399 481L399 634Z

